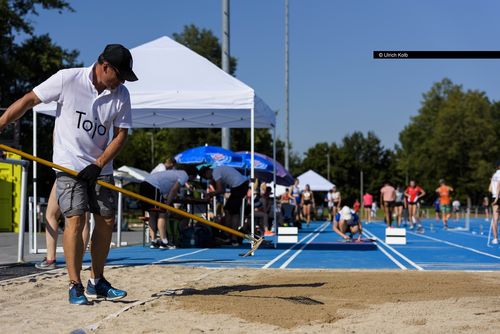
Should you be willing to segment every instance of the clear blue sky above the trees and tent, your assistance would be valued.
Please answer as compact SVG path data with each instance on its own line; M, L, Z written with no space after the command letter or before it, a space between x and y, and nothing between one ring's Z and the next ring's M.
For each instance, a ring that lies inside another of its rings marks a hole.
M135 47L195 24L220 38L221 0L70 1L40 11L36 33L91 64L108 43ZM231 0L236 76L279 110L284 137L284 0ZM392 148L422 93L444 77L500 100L499 60L374 60L374 50L500 50L495 0L289 0L290 139L303 153L374 131Z

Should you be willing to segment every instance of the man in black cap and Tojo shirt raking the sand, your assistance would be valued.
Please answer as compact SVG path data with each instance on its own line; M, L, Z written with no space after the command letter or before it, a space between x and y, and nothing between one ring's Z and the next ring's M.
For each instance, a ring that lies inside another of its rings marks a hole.
M114 182L113 158L125 144L132 126L130 96L123 85L125 81L137 80L132 65L128 49L109 44L95 64L58 71L14 102L0 117L2 131L37 104L57 103L53 161L78 172L77 177L56 174L56 193L66 219L63 238L71 304L88 304L86 296L116 300L127 295L104 278L117 196L97 185L96 180ZM80 272L87 211L94 214L96 224L91 241L91 279L85 291Z

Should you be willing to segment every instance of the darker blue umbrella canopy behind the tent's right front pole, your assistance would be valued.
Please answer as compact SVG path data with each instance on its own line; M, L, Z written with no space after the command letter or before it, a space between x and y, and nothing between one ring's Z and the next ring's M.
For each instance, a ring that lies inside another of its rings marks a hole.
M245 162L246 169L251 167L251 154L248 151L236 152L237 155L243 158ZM268 157L265 154L254 153L254 166L255 175L258 179L264 182L273 181L273 166L276 165L276 184L283 186L291 186L294 184L295 180L293 176L281 165L279 162L275 162L274 159Z

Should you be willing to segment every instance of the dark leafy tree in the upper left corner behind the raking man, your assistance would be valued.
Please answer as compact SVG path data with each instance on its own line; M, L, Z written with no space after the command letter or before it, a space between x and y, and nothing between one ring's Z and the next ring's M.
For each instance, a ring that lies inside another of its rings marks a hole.
M66 1L60 0L0 0L0 106L7 107L47 79L57 70L80 66L76 62L78 51L65 50L52 42L48 35L36 36L28 15L38 15L38 10L72 11ZM27 38L19 43L19 34ZM26 115L18 121L21 149L32 150L32 118ZM38 124L39 156L51 160L52 118L42 118ZM6 129L1 138L12 138L14 126ZM31 172L31 169L30 169ZM39 169L40 193L48 196L54 179L49 168Z

